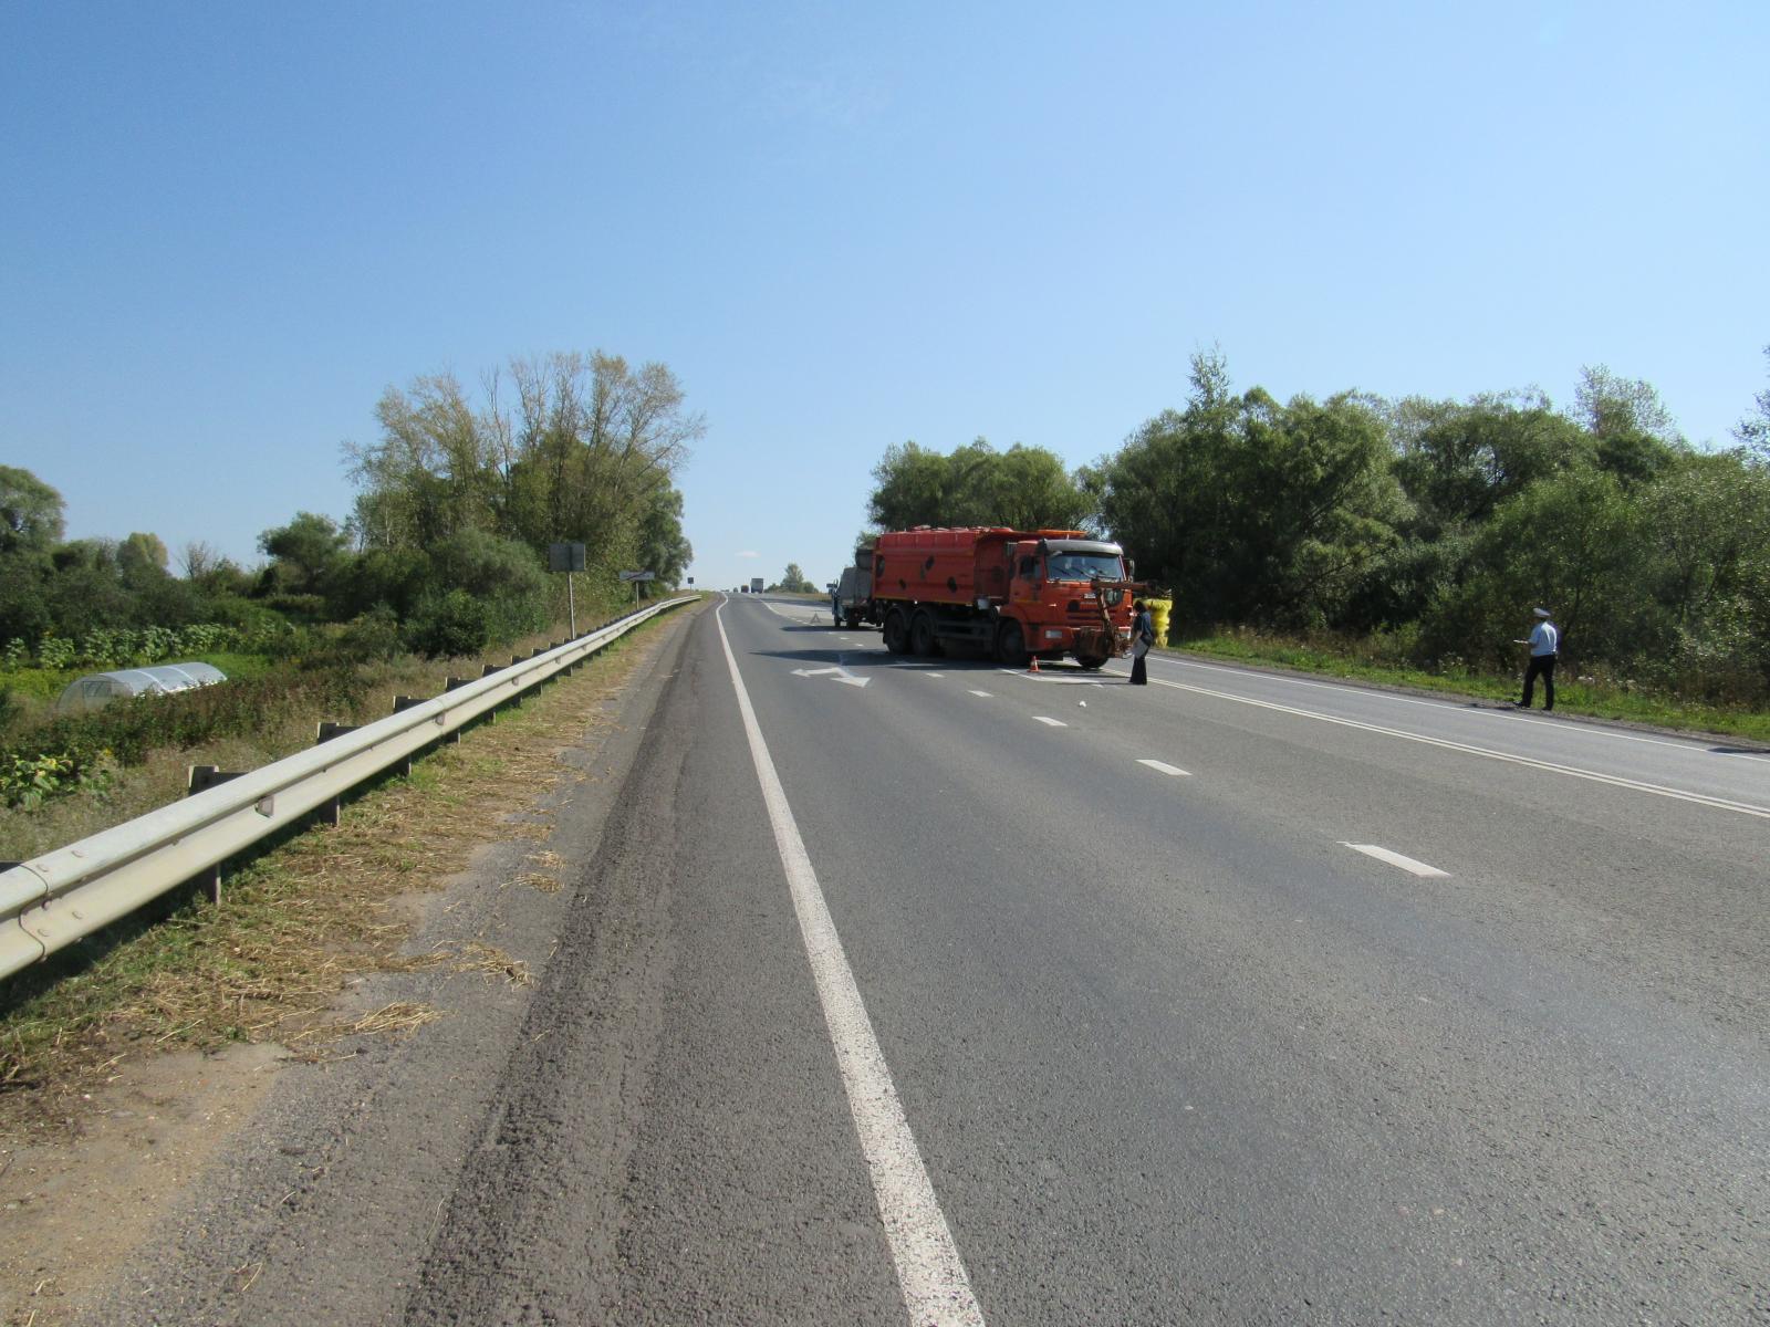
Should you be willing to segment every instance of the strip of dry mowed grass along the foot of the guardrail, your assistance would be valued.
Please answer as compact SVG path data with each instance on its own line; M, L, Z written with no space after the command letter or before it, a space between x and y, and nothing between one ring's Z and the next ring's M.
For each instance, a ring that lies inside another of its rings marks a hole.
M442 747L411 779L350 802L338 828L312 828L230 874L219 908L186 892L158 918L122 922L60 961L16 975L0 1000L0 1138L76 1127L80 1099L131 1056L269 1040L322 1058L342 1035L404 1033L435 1017L389 1005L338 1019L340 993L372 971L446 964L487 980L527 970L480 945L411 955L411 908L492 839L545 837L540 796L577 782L563 750L611 722L605 701L655 644L639 628L575 676ZM182 777L189 754L168 756ZM235 766L239 768L239 766ZM522 812L520 821L508 817ZM559 888L565 862L531 853L512 888ZM120 931L120 934L119 934Z

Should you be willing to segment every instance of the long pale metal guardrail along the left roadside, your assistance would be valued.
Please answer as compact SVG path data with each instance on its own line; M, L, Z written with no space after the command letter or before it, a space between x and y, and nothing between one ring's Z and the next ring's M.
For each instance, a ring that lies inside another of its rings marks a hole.
M299 756L0 872L0 977L200 878L242 848L589 658L639 623L692 600L664 600Z

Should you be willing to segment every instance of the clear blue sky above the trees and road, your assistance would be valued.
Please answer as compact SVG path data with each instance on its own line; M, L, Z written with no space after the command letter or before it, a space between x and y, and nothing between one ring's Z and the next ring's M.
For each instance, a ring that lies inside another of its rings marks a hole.
M0 464L255 561L389 384L667 363L699 584L834 579L892 442L1071 465L1237 386L1770 343L1770 5L0 0Z

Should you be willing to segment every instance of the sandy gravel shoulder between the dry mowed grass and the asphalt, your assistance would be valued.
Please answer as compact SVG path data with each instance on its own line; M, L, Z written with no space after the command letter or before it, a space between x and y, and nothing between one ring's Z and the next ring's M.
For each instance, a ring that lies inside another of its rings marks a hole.
M110 1083L69 1104L67 1136L0 1150L11 1235L0 1322L142 1322L149 1302L159 1320L253 1320L251 1288L296 1253L292 1228L335 1207L329 1177L352 1148L389 1134L416 1154L414 1182L458 1157L444 1145L460 1127L451 1120L471 1118L485 1090L474 1083L497 1072L501 1037L558 941L566 863L595 853L692 616L674 614L628 646L618 683L588 671L536 702L570 717L547 752L563 777L489 817L466 871L416 879L398 901L409 971L356 978L320 1010L340 1028L391 1035L347 1035L301 1055L269 1042L219 1055L135 1049ZM437 954L496 963L427 963ZM427 1010L428 1021L377 1024L398 1009ZM382 1178L393 1187L350 1198L388 1214L366 1230L409 1224L393 1201L405 1177Z

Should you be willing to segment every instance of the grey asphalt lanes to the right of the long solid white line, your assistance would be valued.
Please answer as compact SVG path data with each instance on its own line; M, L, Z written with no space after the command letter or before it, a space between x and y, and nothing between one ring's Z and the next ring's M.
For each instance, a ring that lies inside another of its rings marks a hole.
M724 617L986 1316L1770 1309L1761 759Z

